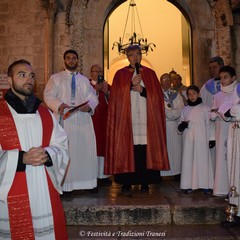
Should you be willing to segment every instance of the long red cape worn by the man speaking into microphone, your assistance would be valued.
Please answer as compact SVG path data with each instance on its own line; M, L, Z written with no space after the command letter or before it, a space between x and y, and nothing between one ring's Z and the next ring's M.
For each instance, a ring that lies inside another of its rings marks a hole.
M108 105L105 174L135 172L130 88L134 69L124 67L114 76ZM164 98L156 73L141 66L147 92L146 168L169 170Z

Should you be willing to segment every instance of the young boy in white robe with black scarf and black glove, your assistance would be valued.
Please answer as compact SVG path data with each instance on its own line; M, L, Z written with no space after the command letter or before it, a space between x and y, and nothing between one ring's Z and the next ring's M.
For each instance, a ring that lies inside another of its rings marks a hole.
M188 105L182 109L178 132L183 134L180 188L186 194L201 189L203 194L213 188L209 123L210 108L202 103L197 86L187 88Z

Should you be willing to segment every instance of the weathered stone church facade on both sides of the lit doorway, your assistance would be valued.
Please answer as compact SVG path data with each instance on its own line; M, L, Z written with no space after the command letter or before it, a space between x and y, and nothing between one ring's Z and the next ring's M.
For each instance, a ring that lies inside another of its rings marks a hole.
M19 58L28 59L37 74L36 94L53 72L63 69L63 52L79 52L79 70L89 75L92 64L103 65L103 27L110 12L124 0L0 0L0 73ZM208 79L208 60L221 55L240 72L239 1L169 0L192 28L192 80Z

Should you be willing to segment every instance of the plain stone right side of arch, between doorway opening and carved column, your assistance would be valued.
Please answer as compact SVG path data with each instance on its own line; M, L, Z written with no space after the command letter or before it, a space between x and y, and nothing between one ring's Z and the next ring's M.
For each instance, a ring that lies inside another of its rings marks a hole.
M209 78L208 61L216 54L214 18L206 1L170 0L186 14L192 35L192 82L199 87ZM204 18L202 17L204 16Z

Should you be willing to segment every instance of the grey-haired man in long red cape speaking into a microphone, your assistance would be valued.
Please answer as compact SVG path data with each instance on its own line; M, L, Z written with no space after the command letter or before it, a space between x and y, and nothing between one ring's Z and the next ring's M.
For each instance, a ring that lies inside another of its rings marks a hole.
M105 174L114 174L122 192L142 192L169 170L164 98L156 73L141 65L139 45L126 50L130 63L114 76L108 106Z

